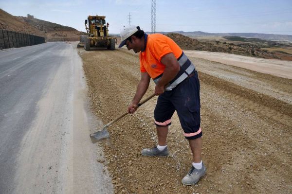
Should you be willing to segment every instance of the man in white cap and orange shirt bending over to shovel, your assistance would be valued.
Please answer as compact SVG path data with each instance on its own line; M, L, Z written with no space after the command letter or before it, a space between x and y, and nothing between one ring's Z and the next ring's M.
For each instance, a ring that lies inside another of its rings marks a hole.
M150 82L155 82L155 94L159 95L154 110L158 145L142 150L143 156L167 156L166 136L171 117L177 111L185 138L193 154L192 168L183 177L184 185L196 184L205 175L201 160L202 131L200 127L200 83L195 66L183 50L169 37L162 34L147 35L139 26L124 27L121 44L128 50L140 52L141 80L136 94L128 106L134 113Z

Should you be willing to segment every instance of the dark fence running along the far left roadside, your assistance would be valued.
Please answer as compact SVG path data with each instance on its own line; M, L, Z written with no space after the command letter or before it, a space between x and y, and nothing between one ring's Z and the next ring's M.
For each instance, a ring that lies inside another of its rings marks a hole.
M44 37L0 30L0 49L25 47L41 43L45 43Z

